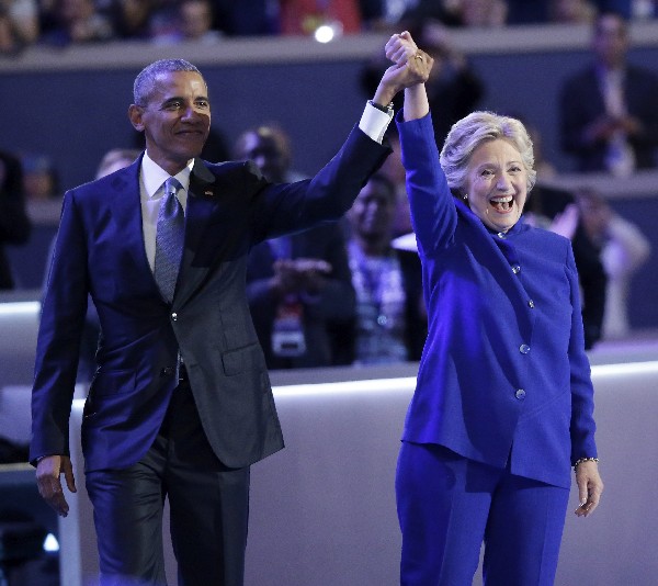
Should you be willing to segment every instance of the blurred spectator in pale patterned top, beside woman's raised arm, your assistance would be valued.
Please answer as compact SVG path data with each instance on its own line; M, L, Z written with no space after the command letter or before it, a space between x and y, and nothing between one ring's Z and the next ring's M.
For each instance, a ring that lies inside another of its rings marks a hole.
M356 292L354 331L348 339L354 364L420 360L427 336L422 274L416 251L392 247L395 185L374 174L348 217L352 284Z

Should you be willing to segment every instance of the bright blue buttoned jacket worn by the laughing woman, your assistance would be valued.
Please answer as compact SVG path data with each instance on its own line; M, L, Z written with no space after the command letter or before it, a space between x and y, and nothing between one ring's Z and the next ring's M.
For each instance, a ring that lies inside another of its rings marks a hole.
M398 126L429 313L402 439L568 487L597 455L570 243L489 230L451 194L430 116Z

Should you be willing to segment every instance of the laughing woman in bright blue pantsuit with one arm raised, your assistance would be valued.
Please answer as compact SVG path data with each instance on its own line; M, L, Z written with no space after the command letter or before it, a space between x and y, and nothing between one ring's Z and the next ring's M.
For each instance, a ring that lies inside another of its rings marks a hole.
M429 71L408 33L387 57ZM396 478L401 584L551 585L570 470L580 506L603 483L578 274L567 238L522 218L535 182L523 125L475 112L441 155L424 84L398 114L429 314Z

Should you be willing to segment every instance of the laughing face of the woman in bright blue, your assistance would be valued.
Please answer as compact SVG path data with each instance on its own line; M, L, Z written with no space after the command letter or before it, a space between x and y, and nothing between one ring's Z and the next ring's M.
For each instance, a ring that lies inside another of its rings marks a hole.
M470 210L487 227L509 230L521 217L527 196L521 154L503 138L483 143L468 160L465 189Z

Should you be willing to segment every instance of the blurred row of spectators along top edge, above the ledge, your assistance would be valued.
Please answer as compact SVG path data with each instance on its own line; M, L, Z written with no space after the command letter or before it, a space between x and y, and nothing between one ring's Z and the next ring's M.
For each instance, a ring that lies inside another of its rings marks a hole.
M654 19L655 0L0 0L0 55L31 45L117 40L215 43L224 37L390 31L433 19L451 27L589 23L601 11Z

